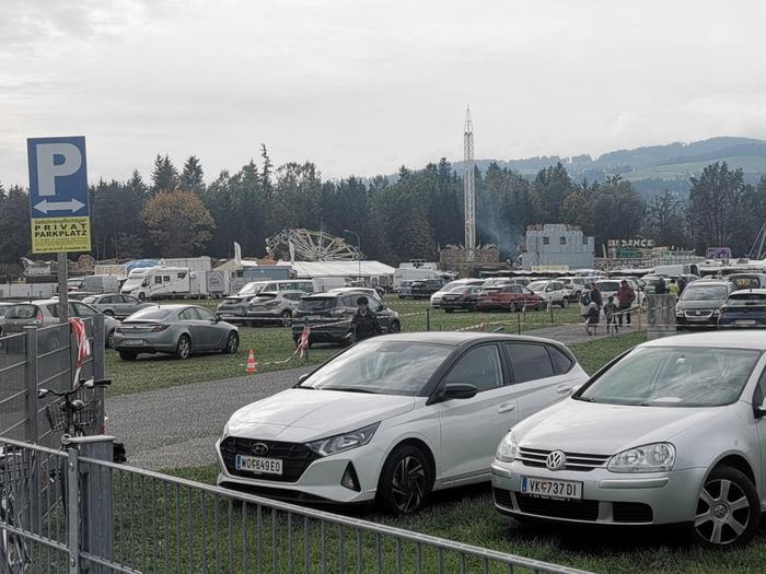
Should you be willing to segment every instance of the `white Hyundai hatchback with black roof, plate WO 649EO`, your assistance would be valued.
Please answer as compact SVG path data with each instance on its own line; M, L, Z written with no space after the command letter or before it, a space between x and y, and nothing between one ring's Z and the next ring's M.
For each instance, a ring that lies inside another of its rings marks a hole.
M588 376L561 343L471 332L360 342L236 411L218 483L408 514L432 490L488 481L498 442Z

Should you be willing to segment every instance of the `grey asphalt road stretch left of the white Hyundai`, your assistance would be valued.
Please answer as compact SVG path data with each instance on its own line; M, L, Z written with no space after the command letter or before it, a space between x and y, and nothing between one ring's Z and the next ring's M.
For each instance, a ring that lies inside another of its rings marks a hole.
M196 359L193 359L196 361ZM232 412L291 387L312 367L194 383L106 400L106 432L128 464L150 470L216 462L214 444Z

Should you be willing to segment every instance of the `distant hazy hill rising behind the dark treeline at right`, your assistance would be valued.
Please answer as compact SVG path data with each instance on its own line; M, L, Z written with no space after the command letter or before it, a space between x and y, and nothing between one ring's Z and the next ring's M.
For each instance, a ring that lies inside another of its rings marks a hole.
M617 150L599 157L576 155L559 157L547 155L523 160L478 160L477 166L485 172L490 163L509 167L524 176L534 177L539 169L561 162L570 177L581 181L603 181L610 175L620 175L634 184L645 196L652 197L665 189L685 195L689 177L698 176L703 168L718 161L730 167L741 167L745 180L755 183L766 174L766 140L751 138L711 138L692 143L648 145L635 150ZM463 162L454 164L463 173Z

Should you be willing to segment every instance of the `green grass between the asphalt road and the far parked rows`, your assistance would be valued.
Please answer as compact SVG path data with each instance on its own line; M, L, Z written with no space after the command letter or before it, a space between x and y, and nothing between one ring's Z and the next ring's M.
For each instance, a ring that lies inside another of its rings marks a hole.
M429 325L432 331L454 330L476 327L486 321L487 330L502 327L504 332L513 333L579 320L577 305L566 309L555 308L552 323L549 312L448 314L431 309L427 315L427 300L386 297L385 302L402 315L405 331L425 331ZM201 301L200 304L212 309L218 306L216 301ZM338 351L337 347L314 345L307 362L298 358L283 362L293 353L294 344L290 329L280 327L241 327L240 351L234 355L199 355L187 361L176 361L170 355L144 355L136 362L125 362L116 352L107 351L106 375L113 379L109 396L242 376L245 374L249 349L255 352L259 373L317 364Z

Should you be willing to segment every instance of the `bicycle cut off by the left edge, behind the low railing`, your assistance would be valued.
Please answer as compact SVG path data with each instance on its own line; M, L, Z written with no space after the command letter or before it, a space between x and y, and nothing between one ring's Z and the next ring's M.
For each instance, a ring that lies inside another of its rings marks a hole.
M12 464L22 457L21 453L9 452L5 447L0 447L0 573L18 574L26 572L32 563L30 552L24 537L2 528L22 527L19 512L14 505L13 475L18 475L16 480L28 482L30 473L25 472L23 464L15 466ZM31 470L31 469L30 469ZM28 487L28 484L27 484Z

